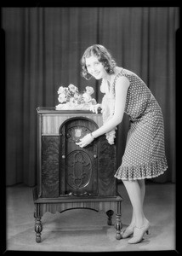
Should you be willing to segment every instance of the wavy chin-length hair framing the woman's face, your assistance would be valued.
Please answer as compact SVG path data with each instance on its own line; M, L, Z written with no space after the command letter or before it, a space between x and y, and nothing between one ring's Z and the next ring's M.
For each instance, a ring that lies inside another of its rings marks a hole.
M81 75L83 78L89 80L92 78L92 75L88 73L88 69L86 66L86 58L95 55L98 58L103 66L105 67L105 71L109 74L114 73L113 68L116 67L117 63L112 59L111 53L100 44L94 44L88 47L82 55L81 59L81 67L82 72Z

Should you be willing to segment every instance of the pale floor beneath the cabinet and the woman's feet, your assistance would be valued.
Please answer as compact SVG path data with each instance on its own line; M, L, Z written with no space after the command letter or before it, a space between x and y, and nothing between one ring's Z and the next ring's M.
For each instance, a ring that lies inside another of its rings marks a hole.
M123 230L131 218L126 189L118 184L123 197ZM122 252L175 250L175 184L146 183L145 215L151 235L139 244L117 240L114 224L107 225L105 212L74 209L43 215L42 242L35 241L32 188L23 184L7 188L7 250L52 252ZM115 216L113 217L113 223Z

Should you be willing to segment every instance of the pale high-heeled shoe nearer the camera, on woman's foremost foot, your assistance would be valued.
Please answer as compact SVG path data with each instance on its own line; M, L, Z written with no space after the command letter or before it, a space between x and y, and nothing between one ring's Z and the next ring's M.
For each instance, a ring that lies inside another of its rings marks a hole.
M128 243L138 243L140 241L143 240L143 236L145 235L145 233L147 235L150 234L149 230L151 228L151 224L149 223L149 221L147 221L147 223L144 226L141 227L134 227L134 236L128 240Z

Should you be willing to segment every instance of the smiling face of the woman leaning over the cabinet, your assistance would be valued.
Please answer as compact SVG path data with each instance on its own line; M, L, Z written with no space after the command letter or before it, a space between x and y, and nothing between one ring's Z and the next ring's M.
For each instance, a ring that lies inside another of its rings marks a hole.
M103 64L98 61L98 58L95 55L85 59L86 67L88 73L90 73L95 79L105 79L108 76L108 73L105 71Z

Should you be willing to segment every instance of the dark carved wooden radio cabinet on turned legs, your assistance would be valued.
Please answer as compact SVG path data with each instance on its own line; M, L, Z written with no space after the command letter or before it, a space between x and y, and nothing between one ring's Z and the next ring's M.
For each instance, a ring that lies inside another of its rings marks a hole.
M37 186L33 189L36 241L41 241L45 212L87 208L116 212L116 238L121 239L122 196L117 193L116 145L105 135L85 148L76 142L102 125L100 113L37 108Z

